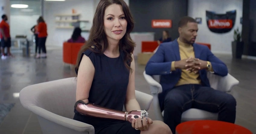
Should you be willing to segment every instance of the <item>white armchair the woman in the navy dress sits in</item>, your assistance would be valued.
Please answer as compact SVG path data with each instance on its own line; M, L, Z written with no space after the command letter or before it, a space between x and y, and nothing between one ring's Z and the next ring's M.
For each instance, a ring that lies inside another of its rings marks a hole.
M34 84L23 88L20 101L25 109L37 115L44 134L94 134L94 127L73 120L75 77ZM148 110L153 97L135 91L141 109Z

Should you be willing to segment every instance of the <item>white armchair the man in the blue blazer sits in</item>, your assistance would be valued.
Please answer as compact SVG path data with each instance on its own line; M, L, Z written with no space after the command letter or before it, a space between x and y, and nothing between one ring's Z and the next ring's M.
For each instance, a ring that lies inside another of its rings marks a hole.
M160 75L150 76L147 75L145 71L143 72L143 75L146 81L149 83L149 88L153 96L153 107L155 109L156 120L163 121L164 111L161 113L158 101L158 94L162 93L162 86L159 84ZM239 81L230 74L221 77L213 73L207 73L207 77L213 89L218 89L223 92L230 92L234 85L239 84ZM217 120L217 118L218 113L207 112L195 108L188 109L181 115L182 122L192 120Z

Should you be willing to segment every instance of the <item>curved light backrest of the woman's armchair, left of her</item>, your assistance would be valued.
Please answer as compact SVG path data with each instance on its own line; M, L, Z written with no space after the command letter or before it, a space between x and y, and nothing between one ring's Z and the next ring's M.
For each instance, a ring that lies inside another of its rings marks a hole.
M76 80L71 77L27 86L20 92L20 101L26 109L34 105L72 119L75 92Z

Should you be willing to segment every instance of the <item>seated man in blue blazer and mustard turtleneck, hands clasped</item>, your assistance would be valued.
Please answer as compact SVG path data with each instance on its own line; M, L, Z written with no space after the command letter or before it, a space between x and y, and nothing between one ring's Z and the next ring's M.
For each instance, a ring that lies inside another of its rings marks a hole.
M182 112L202 109L218 114L219 121L235 123L236 101L230 94L210 88L207 72L226 76L228 69L207 46L195 43L197 22L185 16L178 24L179 38L161 43L146 65L146 74L161 75L159 94L164 122L175 134Z

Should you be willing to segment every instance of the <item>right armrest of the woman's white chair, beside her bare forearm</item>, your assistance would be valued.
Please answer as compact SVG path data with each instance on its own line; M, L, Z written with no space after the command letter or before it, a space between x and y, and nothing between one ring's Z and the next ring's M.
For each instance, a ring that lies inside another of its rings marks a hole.
M153 96L143 93L143 92L140 92L140 91L137 91L137 90L135 90L135 96L136 96L136 100L138 101L141 110L148 111L149 107L152 103Z

